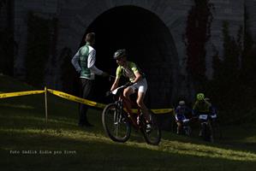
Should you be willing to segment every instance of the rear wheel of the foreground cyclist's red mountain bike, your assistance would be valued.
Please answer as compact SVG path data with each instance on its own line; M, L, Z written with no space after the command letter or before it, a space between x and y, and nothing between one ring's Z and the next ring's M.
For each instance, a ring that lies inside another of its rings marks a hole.
M161 130L158 127L156 115L154 115L152 112L150 112L149 115L150 115L151 123L152 123L151 131L148 133L146 132L146 120L144 119L144 117L143 117L144 121L142 122L143 124L142 124L142 127L140 128L140 130L141 130L147 144L158 145L160 143L161 137L162 137Z

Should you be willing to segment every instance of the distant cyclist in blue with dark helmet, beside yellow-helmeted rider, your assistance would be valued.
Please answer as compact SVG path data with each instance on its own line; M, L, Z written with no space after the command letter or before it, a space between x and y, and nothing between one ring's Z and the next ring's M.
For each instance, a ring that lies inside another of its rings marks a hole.
M180 101L179 105L176 107L175 113L176 113L176 124L177 124L177 134L182 133L182 127L184 124L188 123L188 119L186 117L186 114L188 113L189 109L186 106L185 101Z

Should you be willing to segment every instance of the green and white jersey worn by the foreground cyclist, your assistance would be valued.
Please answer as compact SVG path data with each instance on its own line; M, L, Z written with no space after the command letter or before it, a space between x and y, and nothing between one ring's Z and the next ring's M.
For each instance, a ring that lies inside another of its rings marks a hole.
M135 73L137 72L140 72L140 68L138 68L134 62L127 62L127 68L122 66L116 68L116 78L120 78L121 75L123 75L130 81L133 81L136 78ZM140 74L142 73L140 72ZM144 74L142 74L142 76L144 77Z

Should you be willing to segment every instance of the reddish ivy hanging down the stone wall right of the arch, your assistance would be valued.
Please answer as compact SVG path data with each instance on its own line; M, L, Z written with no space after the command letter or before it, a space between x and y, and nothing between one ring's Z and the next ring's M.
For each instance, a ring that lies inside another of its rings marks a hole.
M211 10L213 4L209 0L194 0L195 5L188 13L186 27L187 71L196 87L205 82L205 44L211 37ZM194 87L194 88L196 88Z

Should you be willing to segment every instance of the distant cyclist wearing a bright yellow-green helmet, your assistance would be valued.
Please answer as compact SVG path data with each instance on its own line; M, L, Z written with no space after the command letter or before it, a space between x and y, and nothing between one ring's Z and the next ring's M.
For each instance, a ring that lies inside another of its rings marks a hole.
M193 115L209 115L211 114L211 103L205 100L204 93L198 93L196 95L196 101L193 104ZM201 129L199 130L199 136L201 136ZM212 139L212 137L211 137Z

